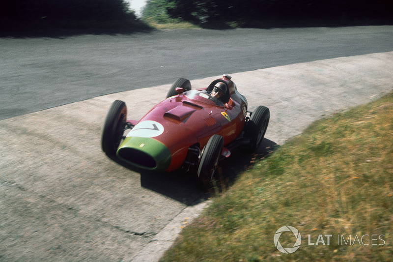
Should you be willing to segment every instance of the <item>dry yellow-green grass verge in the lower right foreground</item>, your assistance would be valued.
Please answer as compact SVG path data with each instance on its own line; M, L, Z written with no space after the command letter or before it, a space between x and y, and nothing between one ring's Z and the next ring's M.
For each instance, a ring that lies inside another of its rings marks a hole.
M162 261L391 261L392 116L393 93L314 122L239 175ZM302 236L292 254L275 247L282 226Z

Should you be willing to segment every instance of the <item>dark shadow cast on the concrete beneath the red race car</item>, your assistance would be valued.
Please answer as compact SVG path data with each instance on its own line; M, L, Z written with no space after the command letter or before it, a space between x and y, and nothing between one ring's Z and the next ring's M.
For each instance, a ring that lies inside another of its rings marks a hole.
M220 162L220 175L222 177L220 190L230 187L239 174L253 167L259 159L264 159L279 146L266 138L263 139L261 146L254 153L247 153L239 148L232 151L231 155ZM140 185L168 198L176 200L186 205L199 204L212 196L215 191L203 190L198 186L196 171L179 169L170 173L146 172L135 170L130 165L118 161L111 157L116 163L140 173Z

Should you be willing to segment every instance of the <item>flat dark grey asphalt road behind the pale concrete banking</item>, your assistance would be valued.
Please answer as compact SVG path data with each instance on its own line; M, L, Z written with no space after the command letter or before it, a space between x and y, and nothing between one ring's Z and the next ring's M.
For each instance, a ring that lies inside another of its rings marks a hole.
M392 50L392 26L0 38L0 119L178 77Z

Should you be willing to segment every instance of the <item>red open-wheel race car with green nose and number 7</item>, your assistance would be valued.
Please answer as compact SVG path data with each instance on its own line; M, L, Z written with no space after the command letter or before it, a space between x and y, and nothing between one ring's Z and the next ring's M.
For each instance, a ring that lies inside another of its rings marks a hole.
M191 89L189 80L179 78L167 98L139 121L128 120L126 104L114 101L101 146L108 156L137 170L194 167L199 181L208 186L217 179L219 161L229 157L231 150L259 147L269 119L267 107L248 111L246 98L228 75L199 89Z

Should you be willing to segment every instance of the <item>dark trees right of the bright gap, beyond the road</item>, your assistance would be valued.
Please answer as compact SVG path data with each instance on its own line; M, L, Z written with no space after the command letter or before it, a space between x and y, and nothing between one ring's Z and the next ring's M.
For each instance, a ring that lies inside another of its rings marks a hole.
M239 26L325 22L393 22L393 0L150 0L170 18L198 25ZM147 7L149 4L147 5Z

